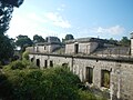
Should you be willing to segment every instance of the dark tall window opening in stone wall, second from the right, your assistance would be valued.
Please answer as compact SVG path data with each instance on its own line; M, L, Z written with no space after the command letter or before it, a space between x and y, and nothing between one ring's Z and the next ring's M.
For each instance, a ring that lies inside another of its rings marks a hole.
M86 67L86 81L89 83L93 82L93 68Z

